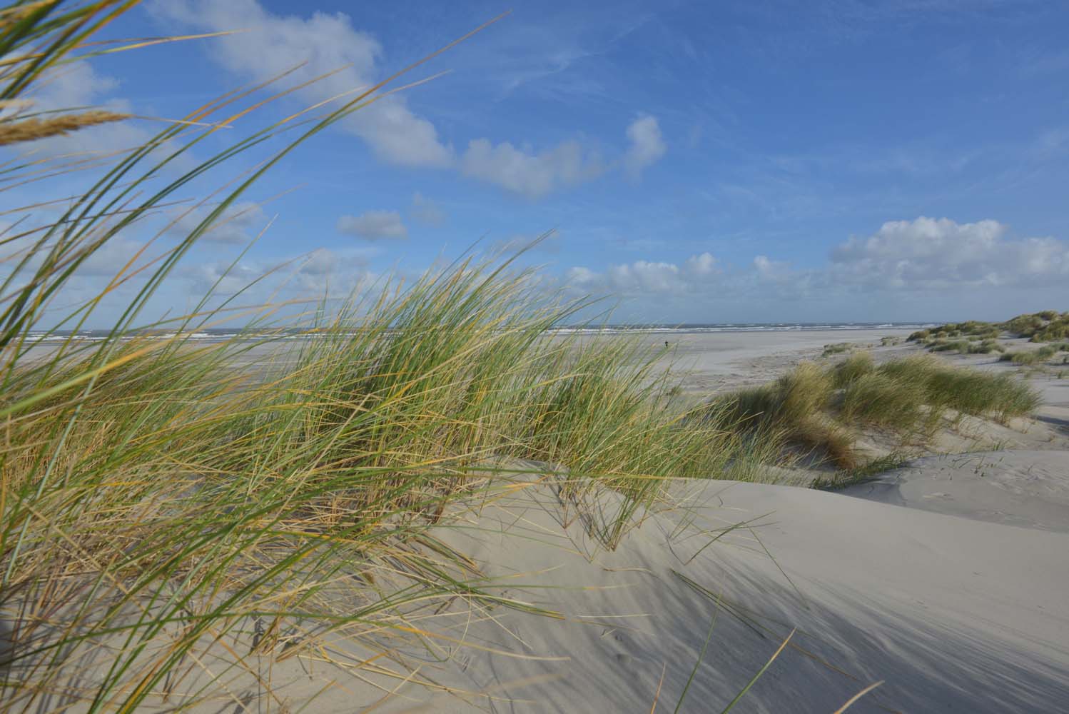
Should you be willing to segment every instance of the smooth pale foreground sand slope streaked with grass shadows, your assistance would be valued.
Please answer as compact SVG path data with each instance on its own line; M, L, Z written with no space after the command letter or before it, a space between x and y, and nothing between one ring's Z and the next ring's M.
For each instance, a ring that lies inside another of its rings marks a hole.
M792 647L734 711L833 712L878 680L850 711L1069 701L1069 536L785 486L682 487L686 508L648 518L614 553L582 522L562 526L546 485L444 532L490 577L514 583L510 594L562 619L499 607L493 620L456 621L448 630L474 647L435 678L493 692L494 701L471 699L489 711L648 712L664 668L657 711L671 711L716 611L682 711L722 711L794 627ZM759 527L704 547L711 529L750 518ZM428 711L469 709L405 694Z

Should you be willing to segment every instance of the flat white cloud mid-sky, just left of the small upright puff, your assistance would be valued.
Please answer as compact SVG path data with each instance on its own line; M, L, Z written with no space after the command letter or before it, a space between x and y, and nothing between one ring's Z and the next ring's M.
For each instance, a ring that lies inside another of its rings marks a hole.
M534 154L508 141L495 146L489 139L476 139L468 143L461 170L465 175L538 199L594 178L605 168L597 155L584 152L577 141L566 141Z

